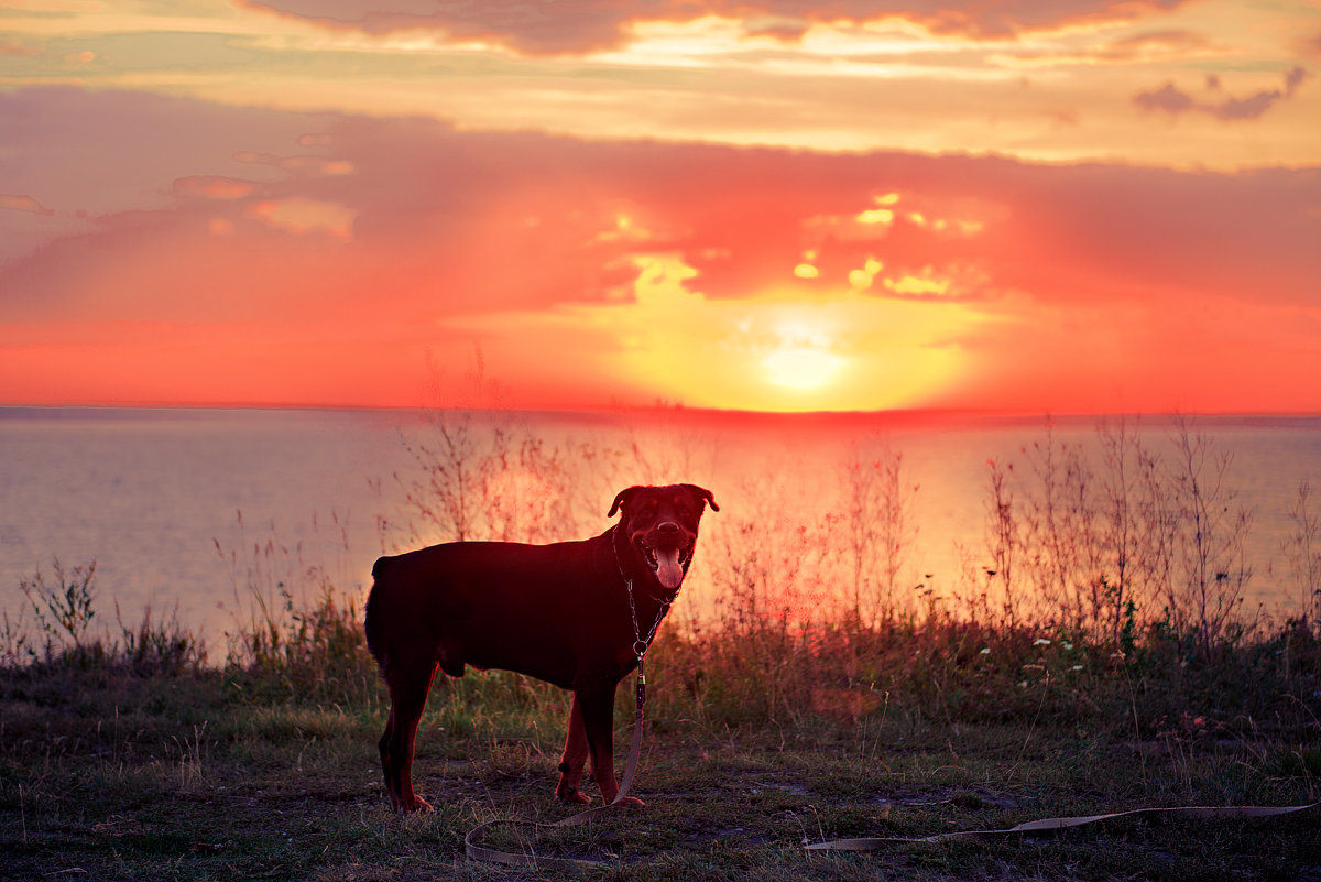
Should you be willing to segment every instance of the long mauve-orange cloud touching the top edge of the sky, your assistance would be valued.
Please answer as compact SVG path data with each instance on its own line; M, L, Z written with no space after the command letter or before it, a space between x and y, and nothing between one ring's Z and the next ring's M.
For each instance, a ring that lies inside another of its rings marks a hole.
M1106 18L1132 18L1170 9L1186 0L575 0L530 4L526 0L439 3L437 0L240 0L329 28L367 33L427 29L452 40L480 40L526 54L573 54L618 48L638 21L688 22L721 16L745 22L749 33L795 40L818 21L868 22L904 17L937 33L975 38L1012 37Z

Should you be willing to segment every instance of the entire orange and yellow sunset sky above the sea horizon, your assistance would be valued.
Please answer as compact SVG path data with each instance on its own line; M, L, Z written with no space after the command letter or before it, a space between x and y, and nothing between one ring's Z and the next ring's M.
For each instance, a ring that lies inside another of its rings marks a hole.
M1321 412L1321 3L0 0L0 404Z

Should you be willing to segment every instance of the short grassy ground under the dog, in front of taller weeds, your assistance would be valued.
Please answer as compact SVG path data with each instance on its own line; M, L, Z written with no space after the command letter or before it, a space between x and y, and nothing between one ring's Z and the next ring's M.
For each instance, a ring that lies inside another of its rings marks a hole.
M867 854L802 848L1152 805L1312 803L1321 746L1306 725L1192 717L1144 730L1133 725L1133 713L1147 713L1136 700L1129 720L1100 705L1090 717L1061 714L1044 683L1007 685L1032 693L1024 706L1036 706L1007 720L894 702L731 725L687 692L667 691L658 667L660 697L635 784L647 805L542 834L539 853L598 858L589 875L639 881L1321 879L1317 809L1259 821L1145 816ZM144 675L67 655L7 668L0 878L567 874L464 856L465 832L482 821L571 813L552 800L561 693L507 675L439 687L417 755L419 791L437 811L403 819L387 809L380 782L375 739L386 706L376 684L330 702L299 698L316 691L292 683L235 669ZM621 698L621 754L626 710ZM519 850L527 834L497 828L487 844Z

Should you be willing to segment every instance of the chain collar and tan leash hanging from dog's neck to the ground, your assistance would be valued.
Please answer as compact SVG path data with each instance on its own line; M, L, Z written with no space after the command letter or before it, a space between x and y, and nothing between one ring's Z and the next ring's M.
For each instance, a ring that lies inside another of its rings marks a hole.
M618 524L614 526L614 531L618 532ZM605 805L597 805L594 808L588 808L579 812L577 815L571 815L550 824L542 821L522 821L511 817L495 819L493 821L486 821L480 824L473 829L468 831L464 837L464 852L469 858L474 861L486 861L490 864L505 864L509 866L539 866L539 867L557 867L557 869L580 869L592 866L604 866L605 861L593 861L588 858L569 858L569 857L539 857L532 850L526 852L502 852L499 849L489 848L485 845L478 845L477 840L493 827L499 827L502 824L531 827L534 829L555 829L563 827L577 827L579 824L585 824L597 815L606 812L620 803L624 797L629 795L629 788L633 787L633 779L638 771L638 758L642 755L642 709L647 702L647 675L643 667L647 650L651 647L651 640L655 639L657 630L660 627L660 619L664 618L666 613L670 611L670 605L674 603L679 593L675 592L674 597L668 599L657 598L660 601L660 610L657 613L657 621L651 623L651 630L647 631L646 638L642 636L642 628L638 626L638 606L633 599L633 580L625 576L624 565L620 562L620 549L614 544L614 536L610 537L610 548L614 551L614 565L620 569L620 576L624 578L624 585L629 595L629 614L633 617L633 652L638 659L638 679L634 695L637 697L637 708L633 712L633 741L629 745L629 758L624 764L624 779L620 782L620 792L614 795L614 800L606 803Z

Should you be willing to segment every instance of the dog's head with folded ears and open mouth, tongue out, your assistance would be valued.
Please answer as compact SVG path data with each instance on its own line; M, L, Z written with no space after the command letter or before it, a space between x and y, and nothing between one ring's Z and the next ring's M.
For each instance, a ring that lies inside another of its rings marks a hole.
M697 522L707 504L720 511L705 487L678 483L668 487L629 487L610 504L608 518L622 512L620 531L638 551L651 573L668 592L678 592L697 545Z

